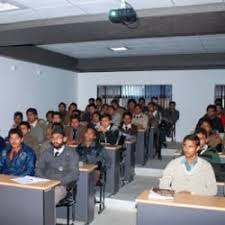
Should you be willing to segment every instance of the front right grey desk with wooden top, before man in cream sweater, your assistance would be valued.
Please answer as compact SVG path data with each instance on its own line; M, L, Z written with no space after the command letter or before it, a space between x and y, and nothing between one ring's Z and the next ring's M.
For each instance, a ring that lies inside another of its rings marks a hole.
M136 199L137 225L224 225L225 198L176 194L174 200Z

